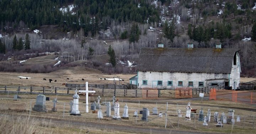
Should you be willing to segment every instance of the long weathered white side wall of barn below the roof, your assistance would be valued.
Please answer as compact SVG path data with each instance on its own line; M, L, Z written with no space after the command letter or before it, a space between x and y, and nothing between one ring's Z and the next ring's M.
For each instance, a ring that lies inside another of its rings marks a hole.
M198 87L199 82L204 82L206 86L209 83L222 83L224 80L209 79L228 79L229 74L210 74L210 73L182 73L182 72L138 72L138 88L153 88L153 83L162 81L162 86L157 85L159 89L175 89L176 87L188 87L188 82L193 82L193 87ZM143 80L147 81L147 85L142 85ZM172 86L168 86L167 82L172 81ZM183 82L183 86L178 86L178 81ZM155 83L154 83L155 84Z

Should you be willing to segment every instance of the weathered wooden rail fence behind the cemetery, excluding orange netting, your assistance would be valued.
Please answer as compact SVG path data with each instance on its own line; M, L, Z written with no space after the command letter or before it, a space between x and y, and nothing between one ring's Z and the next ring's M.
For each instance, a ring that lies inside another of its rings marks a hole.
M100 87L99 85L90 85L89 90L94 90L94 95L100 96L116 96L116 97L143 97L142 89L105 89L94 88ZM198 96L199 93L210 92L210 89L223 89L224 85L193 88L192 95ZM79 85L79 87L26 87L26 86L0 86L0 93L19 93L19 94L62 94L69 95L74 94L75 89L85 90L85 87ZM158 97L175 98L175 90L158 89Z

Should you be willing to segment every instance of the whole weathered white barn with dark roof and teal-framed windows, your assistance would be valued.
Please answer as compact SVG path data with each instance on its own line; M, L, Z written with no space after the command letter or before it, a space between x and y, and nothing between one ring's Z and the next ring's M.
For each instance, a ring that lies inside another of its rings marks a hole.
M191 44L188 44L188 46ZM193 45L192 45L193 47ZM142 48L137 71L138 88L175 89L240 83L240 49Z

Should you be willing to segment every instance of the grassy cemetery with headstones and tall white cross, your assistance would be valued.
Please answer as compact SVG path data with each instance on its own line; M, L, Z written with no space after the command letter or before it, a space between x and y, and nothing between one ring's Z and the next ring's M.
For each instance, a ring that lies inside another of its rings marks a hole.
M0 94L0 113L190 132L254 133L256 129L255 104L209 100L199 96L145 99L89 95L94 92L86 88L75 90L70 95L10 94L15 99ZM20 98L16 99L17 96Z

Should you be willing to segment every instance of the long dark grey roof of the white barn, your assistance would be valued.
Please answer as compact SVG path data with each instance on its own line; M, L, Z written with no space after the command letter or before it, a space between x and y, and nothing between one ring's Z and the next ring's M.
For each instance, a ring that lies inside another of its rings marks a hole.
M236 48L141 48L138 71L231 72Z

